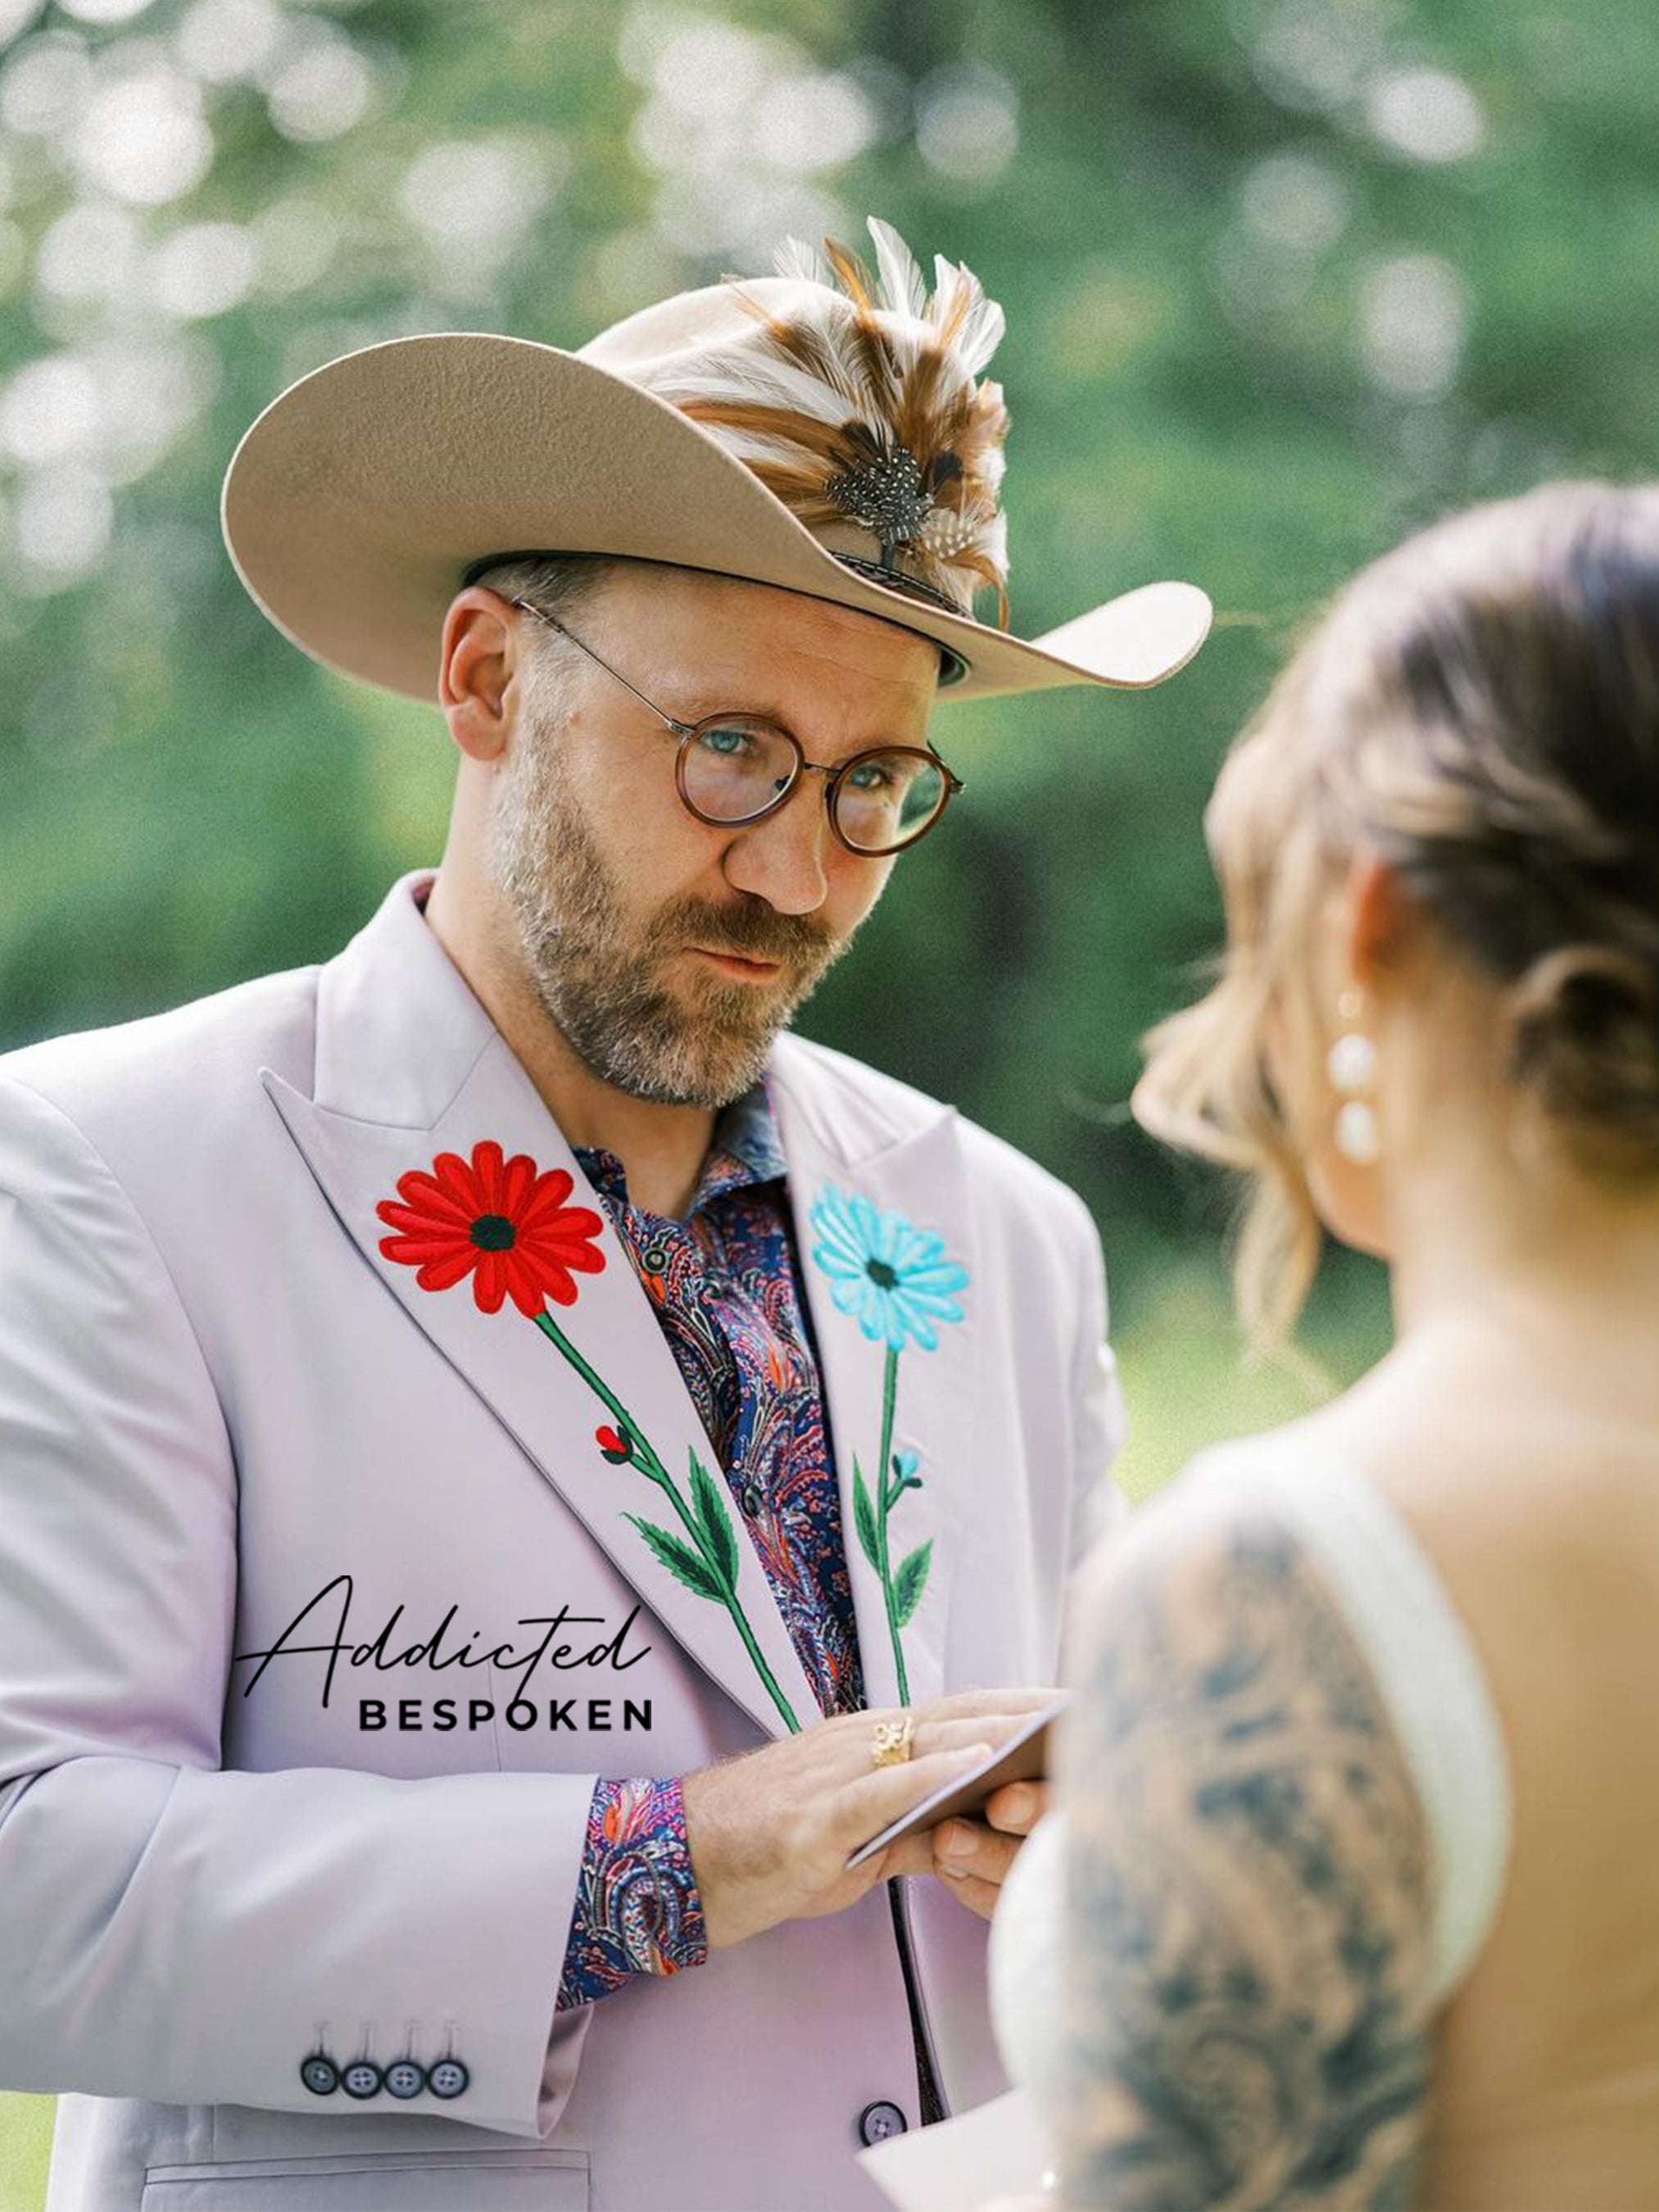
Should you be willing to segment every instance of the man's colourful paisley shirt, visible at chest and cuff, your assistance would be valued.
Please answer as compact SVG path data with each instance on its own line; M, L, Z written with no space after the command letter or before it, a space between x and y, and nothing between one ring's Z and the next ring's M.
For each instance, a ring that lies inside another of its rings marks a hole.
M765 1077L723 1110L684 1221L577 1146L633 1261L825 1714L865 1703L841 1498ZM557 2008L708 1958L679 1781L599 1781Z

